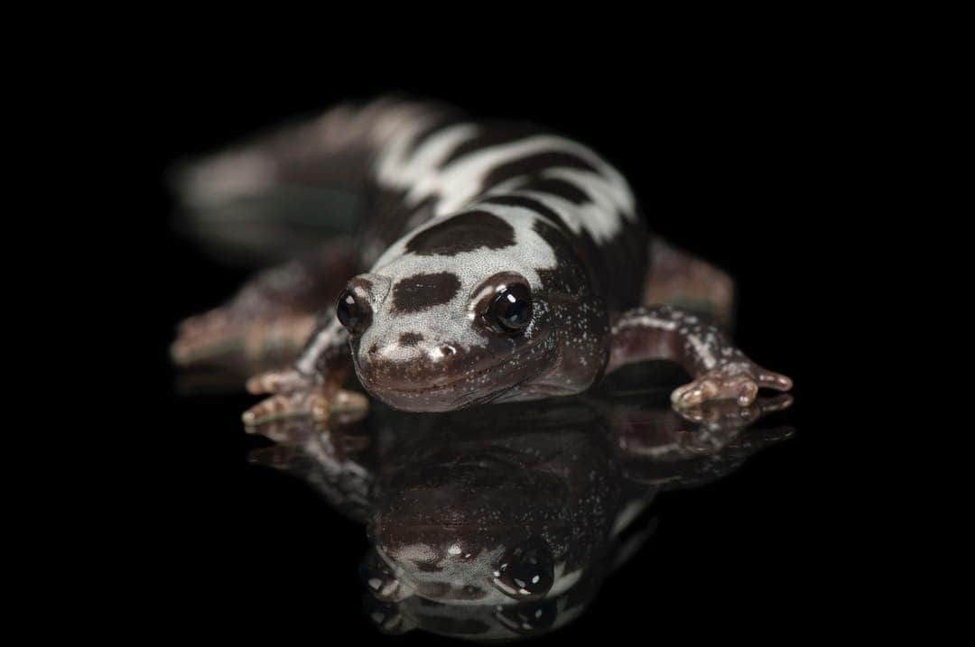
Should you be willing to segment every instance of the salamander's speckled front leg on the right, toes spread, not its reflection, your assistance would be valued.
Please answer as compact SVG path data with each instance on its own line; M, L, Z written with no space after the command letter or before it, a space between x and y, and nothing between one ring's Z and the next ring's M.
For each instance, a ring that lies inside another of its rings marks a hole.
M613 324L611 335L606 372L627 363L670 360L694 377L671 394L678 408L708 400L736 400L748 406L759 389L789 391L793 386L785 375L749 360L714 325L671 306L631 310Z

